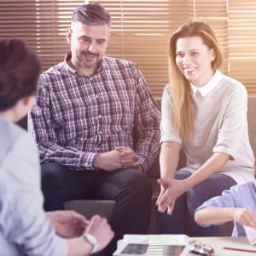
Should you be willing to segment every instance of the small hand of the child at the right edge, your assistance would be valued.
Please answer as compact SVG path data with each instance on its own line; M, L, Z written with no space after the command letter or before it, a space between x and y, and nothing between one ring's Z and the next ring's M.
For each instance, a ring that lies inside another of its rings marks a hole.
M233 213L233 219L241 225L256 228L256 213L250 207L236 208Z

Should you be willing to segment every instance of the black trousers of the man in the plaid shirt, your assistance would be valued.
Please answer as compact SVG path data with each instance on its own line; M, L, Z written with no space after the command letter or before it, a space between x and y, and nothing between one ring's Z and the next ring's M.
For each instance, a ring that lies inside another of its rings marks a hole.
M75 171L55 163L42 165L45 211L64 209L63 203L76 199L114 200L110 220L115 233L107 247L112 255L124 234L146 234L150 218L150 179L135 169L114 172Z

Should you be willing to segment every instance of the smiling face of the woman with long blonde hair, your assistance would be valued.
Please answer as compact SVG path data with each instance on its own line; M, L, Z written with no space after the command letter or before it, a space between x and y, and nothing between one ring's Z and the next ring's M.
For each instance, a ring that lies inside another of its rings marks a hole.
M201 37L178 38L176 65L181 73L195 86L203 86L212 79L213 49L203 44Z

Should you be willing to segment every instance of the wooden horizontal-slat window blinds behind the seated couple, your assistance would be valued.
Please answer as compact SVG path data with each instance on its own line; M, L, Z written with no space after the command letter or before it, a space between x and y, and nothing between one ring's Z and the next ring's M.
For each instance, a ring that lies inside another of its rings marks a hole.
M221 70L256 94L256 2L254 0L9 0L0 1L0 38L22 38L43 68L63 60L66 30L79 4L101 3L113 20L107 55L137 63L156 97L168 83L167 41L183 21L212 26L224 53Z

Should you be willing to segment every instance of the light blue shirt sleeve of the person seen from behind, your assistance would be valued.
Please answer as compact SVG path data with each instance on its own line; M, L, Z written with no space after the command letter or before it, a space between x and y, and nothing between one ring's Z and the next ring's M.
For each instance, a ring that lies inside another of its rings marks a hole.
M67 242L45 217L37 148L26 134L1 163L0 205L0 229L9 244L26 255L67 255Z

